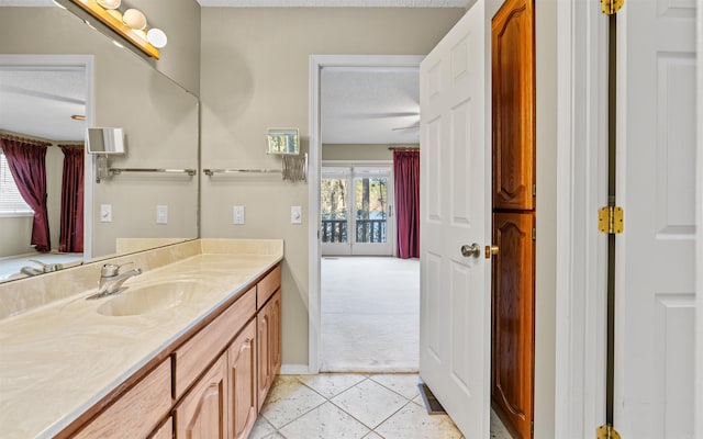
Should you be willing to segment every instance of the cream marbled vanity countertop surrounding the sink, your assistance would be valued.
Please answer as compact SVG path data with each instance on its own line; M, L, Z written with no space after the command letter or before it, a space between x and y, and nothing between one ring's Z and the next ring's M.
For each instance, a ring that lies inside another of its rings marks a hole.
M0 320L0 436L58 434L281 259L282 252L197 255L124 284L200 280L203 288L188 306L105 316L97 308L111 297L86 301L90 290Z

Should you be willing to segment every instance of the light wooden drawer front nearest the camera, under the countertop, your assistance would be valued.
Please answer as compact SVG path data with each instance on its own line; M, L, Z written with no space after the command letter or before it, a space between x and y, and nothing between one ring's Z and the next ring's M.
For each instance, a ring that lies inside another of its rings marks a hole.
M171 408L170 389L171 365L166 360L75 438L145 438Z

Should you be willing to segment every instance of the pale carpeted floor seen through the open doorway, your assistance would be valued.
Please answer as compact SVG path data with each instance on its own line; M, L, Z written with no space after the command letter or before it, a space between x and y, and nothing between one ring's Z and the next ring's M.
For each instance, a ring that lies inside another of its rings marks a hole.
M417 372L420 261L322 259L322 372Z

